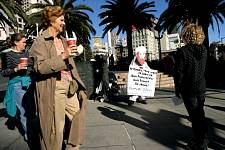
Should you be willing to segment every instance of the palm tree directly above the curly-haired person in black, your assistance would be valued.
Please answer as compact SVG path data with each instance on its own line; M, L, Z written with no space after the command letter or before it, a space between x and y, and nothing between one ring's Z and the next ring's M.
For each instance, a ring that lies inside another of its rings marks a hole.
M220 33L219 22L224 23L225 1L224 0L166 0L168 8L161 14L157 27L160 31L169 31L178 24L185 26L186 23L198 23L203 27L206 35L204 41L209 47L208 28L211 25L214 30L214 21ZM203 5L204 4L204 5Z

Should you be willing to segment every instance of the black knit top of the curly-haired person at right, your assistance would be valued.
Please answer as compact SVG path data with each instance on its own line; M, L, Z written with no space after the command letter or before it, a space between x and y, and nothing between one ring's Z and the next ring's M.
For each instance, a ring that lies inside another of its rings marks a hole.
M205 93L207 49L203 45L187 44L177 50L174 82L176 95L197 96Z

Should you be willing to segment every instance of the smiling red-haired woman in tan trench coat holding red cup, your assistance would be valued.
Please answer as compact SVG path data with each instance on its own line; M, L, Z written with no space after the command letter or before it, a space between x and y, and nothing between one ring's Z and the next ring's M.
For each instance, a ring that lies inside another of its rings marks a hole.
M37 76L41 149L61 150L65 141L65 149L78 150L84 143L87 94L73 60L77 46L68 45L61 35L65 20L60 6L47 6L43 20L43 32L30 50Z

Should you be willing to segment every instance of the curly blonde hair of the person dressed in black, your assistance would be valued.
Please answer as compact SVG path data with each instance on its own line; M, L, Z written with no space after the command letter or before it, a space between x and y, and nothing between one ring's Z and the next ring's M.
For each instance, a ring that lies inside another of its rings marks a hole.
M202 44L205 40L205 34L202 29L202 26L199 26L197 24L188 24L184 27L182 31L182 39L186 43L191 44Z

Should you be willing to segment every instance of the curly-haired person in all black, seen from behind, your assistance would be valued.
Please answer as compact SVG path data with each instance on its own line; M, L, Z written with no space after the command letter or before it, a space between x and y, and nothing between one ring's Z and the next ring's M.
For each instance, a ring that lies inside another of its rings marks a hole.
M192 122L193 138L188 142L187 148L206 150L208 127L204 112L207 60L207 50L203 45L205 35L201 26L189 24L184 27L182 38L186 45L176 53L175 94L182 97Z

